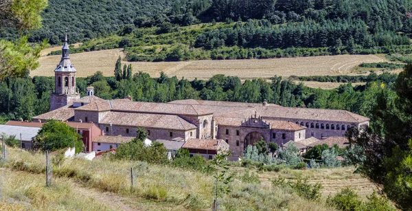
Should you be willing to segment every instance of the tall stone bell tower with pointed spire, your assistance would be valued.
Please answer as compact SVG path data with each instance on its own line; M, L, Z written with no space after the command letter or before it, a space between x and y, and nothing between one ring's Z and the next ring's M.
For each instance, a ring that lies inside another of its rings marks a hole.
M50 96L50 110L55 110L80 99L76 92L76 69L69 58L69 45L67 44L67 29L65 45L62 47L62 58L54 69L54 93Z

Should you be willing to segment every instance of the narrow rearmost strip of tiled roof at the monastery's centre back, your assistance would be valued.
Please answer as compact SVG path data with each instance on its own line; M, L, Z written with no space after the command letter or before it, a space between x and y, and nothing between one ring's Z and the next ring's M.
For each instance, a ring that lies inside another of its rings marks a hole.
M219 107L262 107L262 103L249 103L249 102L229 102L229 101L214 101L214 100L174 100L169 102L171 104L198 104L198 105L209 105L209 106L219 106ZM268 103L267 106L270 107L280 107L277 104Z

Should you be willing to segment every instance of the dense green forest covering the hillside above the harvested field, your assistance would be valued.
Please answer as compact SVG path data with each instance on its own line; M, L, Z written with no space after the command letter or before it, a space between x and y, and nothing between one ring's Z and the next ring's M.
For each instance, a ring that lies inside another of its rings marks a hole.
M58 45L68 27L75 52L123 47L130 61L412 54L407 0L51 0L42 16L30 42Z

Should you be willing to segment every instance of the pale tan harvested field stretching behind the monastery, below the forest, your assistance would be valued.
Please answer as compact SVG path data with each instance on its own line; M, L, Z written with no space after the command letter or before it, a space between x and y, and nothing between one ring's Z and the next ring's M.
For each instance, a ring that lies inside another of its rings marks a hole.
M48 49L46 49L48 50ZM122 49L71 54L71 61L79 77L102 71L113 76L118 56L124 57ZM60 56L42 56L41 67L31 72L32 76L53 76ZM250 60L194 60L185 62L133 62L133 71L145 71L158 77L161 71L168 76L187 79L208 79L216 74L238 76L242 79L271 78L277 76L334 76L354 75L352 68L361 63L378 63L385 59L375 55L312 56L299 58L271 58ZM129 64L124 62L124 64Z

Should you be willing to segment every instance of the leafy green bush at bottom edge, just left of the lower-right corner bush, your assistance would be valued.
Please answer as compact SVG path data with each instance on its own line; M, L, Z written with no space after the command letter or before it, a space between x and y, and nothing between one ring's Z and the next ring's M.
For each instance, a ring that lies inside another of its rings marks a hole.
M341 192L337 193L333 198L328 197L326 201L330 206L343 211L359 210L362 205L361 199L350 188L343 188Z

